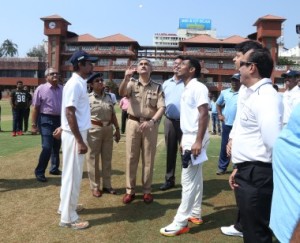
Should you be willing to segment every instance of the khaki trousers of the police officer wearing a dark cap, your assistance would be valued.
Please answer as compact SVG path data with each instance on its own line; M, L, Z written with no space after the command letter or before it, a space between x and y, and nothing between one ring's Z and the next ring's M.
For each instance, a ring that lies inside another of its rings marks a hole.
M87 172L91 189L100 189L100 156L103 187L111 188L111 159L113 150L113 128L92 127L88 131Z

